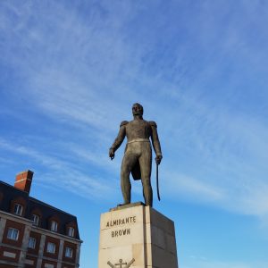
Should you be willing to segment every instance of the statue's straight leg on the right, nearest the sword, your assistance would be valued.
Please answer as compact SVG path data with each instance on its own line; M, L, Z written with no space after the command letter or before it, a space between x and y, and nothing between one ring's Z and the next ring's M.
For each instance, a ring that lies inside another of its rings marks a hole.
M142 143L142 154L138 161L143 186L143 197L146 205L153 206L153 190L151 186L152 149L150 143Z

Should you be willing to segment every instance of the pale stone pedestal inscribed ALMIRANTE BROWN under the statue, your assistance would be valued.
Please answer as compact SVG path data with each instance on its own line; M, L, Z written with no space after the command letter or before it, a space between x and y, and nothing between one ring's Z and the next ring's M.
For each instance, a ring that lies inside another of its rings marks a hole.
M142 203L101 215L98 268L178 268L174 222Z

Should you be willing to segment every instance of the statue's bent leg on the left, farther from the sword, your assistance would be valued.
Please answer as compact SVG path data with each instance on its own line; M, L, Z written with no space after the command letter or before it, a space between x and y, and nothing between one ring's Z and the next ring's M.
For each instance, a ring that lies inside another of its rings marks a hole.
M121 193L124 198L124 204L130 204L131 201L131 184L130 172L137 162L138 157L126 152L121 163Z

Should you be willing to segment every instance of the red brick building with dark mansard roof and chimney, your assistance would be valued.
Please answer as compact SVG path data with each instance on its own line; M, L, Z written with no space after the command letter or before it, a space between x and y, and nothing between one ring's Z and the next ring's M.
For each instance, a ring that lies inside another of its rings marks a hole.
M14 186L0 181L0 268L77 268L77 219L29 197L33 172L17 175Z

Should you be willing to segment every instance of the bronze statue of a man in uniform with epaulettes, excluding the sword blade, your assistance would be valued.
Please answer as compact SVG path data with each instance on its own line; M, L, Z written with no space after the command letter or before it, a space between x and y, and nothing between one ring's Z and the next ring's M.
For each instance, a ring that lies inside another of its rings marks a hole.
M145 121L142 117L143 107L139 104L132 106L132 121L122 121L117 138L109 150L109 156L113 160L114 152L121 146L125 136L128 143L121 163L121 192L124 204L130 204L131 184L130 172L134 180L142 181L143 196L146 205L153 205L153 190L151 186L152 148L149 138L155 150L155 162L161 163L162 153L157 135L155 121Z

